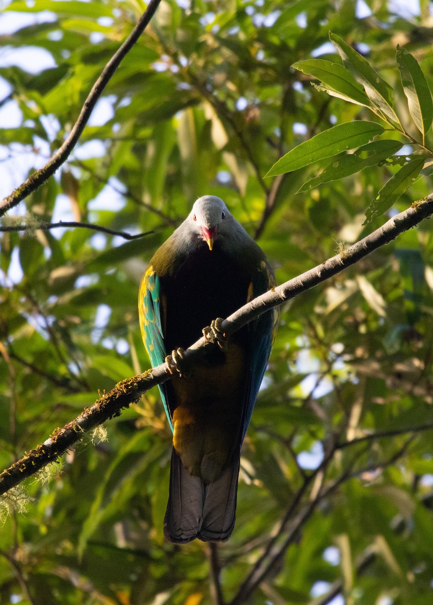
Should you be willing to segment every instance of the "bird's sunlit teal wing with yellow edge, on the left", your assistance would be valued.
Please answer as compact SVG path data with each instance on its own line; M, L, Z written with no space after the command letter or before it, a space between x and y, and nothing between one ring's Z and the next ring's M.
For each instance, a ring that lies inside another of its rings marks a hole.
M138 313L140 315L140 328L142 330L143 342L151 360L152 367L163 364L167 355L164 346L164 294L161 284L152 266L149 266L142 283L140 284L140 296L138 297ZM170 428L173 431L173 422L168 408L166 385L158 385L164 410L167 414Z

